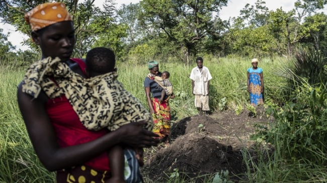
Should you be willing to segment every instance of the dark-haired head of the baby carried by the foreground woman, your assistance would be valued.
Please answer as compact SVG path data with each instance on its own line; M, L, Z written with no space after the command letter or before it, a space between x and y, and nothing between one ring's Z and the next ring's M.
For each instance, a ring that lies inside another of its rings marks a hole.
M99 47L90 50L87 54L86 64L90 77L117 71L115 54L109 48Z

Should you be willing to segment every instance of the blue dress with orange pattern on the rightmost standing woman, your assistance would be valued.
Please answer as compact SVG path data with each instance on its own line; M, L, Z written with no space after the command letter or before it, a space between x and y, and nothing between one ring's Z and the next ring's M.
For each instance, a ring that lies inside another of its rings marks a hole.
M261 78L260 74L263 69L258 67L254 70L252 67L248 69L250 73L249 77L249 87L250 87L250 102L251 105L257 106L259 104L264 104L263 96L261 93Z

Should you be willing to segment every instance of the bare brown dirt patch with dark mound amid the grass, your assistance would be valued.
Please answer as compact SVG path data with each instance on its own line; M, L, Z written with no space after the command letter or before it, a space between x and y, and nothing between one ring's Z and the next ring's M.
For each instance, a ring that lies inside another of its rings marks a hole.
M151 180L164 182L175 168L189 177L221 170L228 170L230 175L246 172L240 150L253 144L249 136L255 123L269 122L264 112L262 107L257 109L257 117L247 110L239 115L224 111L178 121L172 125L169 147L146 150L142 173ZM236 176L232 179L238 180ZM203 182L201 177L199 182Z

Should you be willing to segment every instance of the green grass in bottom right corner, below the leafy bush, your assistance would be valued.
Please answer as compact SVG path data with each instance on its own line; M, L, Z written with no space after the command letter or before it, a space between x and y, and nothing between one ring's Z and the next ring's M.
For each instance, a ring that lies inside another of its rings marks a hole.
M279 141L274 151L268 147L256 147L252 150L242 149L244 161L247 164L247 173L240 182L326 182L326 167L317 165L306 159L285 159ZM269 146L269 145L268 145Z

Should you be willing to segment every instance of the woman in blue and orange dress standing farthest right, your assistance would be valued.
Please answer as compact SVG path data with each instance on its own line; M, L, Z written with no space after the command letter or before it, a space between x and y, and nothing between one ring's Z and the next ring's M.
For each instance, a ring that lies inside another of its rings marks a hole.
M258 59L252 59L252 67L248 69L248 92L251 105L264 104L264 74L263 69L258 67Z

